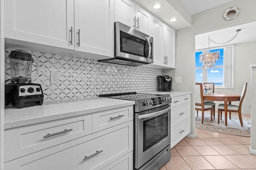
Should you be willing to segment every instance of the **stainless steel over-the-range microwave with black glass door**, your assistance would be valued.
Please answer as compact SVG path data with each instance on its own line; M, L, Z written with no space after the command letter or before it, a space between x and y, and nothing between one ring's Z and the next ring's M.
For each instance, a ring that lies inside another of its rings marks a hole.
M153 37L115 22L114 57L99 62L140 66L153 63Z

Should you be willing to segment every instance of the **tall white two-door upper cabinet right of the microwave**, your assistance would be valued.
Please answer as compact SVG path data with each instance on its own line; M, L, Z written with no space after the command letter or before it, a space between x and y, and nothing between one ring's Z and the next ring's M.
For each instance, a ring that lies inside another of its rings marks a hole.
M151 18L153 64L159 68L175 68L175 31L157 18Z

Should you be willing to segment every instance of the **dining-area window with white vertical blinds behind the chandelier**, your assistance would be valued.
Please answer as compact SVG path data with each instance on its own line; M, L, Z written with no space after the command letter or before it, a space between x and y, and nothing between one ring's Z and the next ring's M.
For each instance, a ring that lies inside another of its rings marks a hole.
M199 62L200 54L207 50L196 51L196 82L213 82L216 88L233 88L233 45L210 50L220 51L220 59L210 69L205 69Z

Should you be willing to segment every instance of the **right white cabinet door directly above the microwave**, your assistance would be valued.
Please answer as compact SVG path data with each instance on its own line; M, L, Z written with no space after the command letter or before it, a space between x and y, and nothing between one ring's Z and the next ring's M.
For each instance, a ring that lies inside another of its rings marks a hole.
M136 29L141 32L150 35L150 14L142 9L140 6L136 5Z

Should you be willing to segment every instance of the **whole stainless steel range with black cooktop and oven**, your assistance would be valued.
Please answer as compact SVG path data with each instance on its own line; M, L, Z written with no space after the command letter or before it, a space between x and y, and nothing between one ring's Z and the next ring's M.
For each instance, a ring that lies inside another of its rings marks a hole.
M119 93L100 97L135 101L135 169L158 170L170 160L170 94Z

